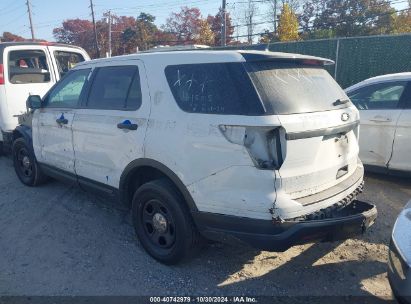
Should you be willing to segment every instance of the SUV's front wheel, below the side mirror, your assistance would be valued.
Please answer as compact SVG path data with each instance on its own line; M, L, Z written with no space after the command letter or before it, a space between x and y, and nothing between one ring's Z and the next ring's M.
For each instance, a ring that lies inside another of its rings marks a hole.
M14 170L23 184L35 187L47 180L24 138L18 138L14 141L12 156Z

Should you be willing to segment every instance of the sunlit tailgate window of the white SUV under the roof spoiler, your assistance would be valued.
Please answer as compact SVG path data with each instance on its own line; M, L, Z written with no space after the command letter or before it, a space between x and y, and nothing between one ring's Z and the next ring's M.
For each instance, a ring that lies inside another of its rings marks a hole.
M294 114L346 108L347 95L322 67L280 62L245 64L267 114Z

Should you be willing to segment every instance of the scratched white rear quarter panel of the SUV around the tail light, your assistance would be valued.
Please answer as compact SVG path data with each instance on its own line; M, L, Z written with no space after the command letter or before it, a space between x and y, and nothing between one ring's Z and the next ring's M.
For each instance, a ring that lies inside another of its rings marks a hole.
M161 63L150 63L149 79L154 100L146 157L175 172L200 211L269 219L275 173L258 170L245 147L230 143L219 125L278 126L278 119L186 113L174 101Z

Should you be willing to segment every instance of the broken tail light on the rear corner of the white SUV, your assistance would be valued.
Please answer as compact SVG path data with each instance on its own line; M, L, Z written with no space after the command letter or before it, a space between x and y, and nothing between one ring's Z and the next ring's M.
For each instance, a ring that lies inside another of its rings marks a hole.
M259 169L279 169L283 164L281 128L221 125L220 131L231 143L247 149Z

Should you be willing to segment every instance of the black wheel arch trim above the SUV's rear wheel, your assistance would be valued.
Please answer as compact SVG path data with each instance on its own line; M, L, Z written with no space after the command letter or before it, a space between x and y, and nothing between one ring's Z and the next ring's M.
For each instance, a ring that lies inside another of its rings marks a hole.
M130 206L134 191L145 182L157 178L169 179L184 198L189 211L198 211L190 192L187 190L187 187L181 179L164 164L148 158L134 160L124 169L120 177L120 201L125 205Z

